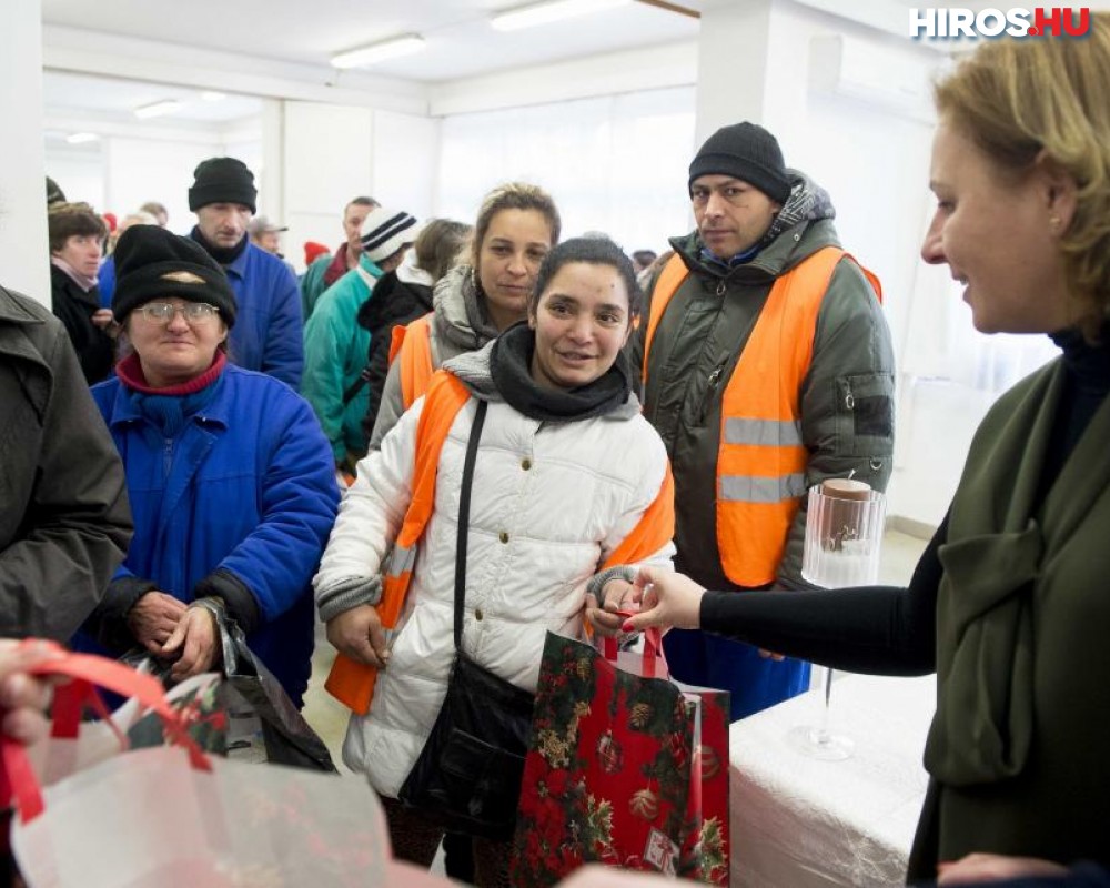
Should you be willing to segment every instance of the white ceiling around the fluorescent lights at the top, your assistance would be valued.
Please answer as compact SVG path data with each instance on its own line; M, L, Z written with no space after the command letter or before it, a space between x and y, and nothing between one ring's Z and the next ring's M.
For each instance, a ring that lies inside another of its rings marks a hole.
M402 33L427 41L373 72L422 82L508 70L697 37L698 20L633 0L623 7L515 32L490 16L514 0L42 0L47 26L326 67L336 52ZM700 11L703 0L675 0Z

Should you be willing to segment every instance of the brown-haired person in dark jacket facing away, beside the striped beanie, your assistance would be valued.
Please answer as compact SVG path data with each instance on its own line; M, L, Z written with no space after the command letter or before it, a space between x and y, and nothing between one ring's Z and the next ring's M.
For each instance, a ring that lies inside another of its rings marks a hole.
M432 311L432 289L455 264L470 233L471 226L464 222L433 219L416 236L401 268L383 274L371 297L359 309L359 324L370 331L370 351L363 371L370 393L363 420L367 441L374 432L385 377L390 374L393 329Z

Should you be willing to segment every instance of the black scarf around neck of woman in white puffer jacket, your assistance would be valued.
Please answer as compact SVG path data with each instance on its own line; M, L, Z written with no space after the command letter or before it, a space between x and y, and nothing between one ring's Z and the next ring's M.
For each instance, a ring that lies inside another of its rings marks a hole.
M605 373L578 389L544 389L532 379L536 337L521 322L502 333L490 352L494 385L511 407L531 420L575 422L601 416L628 400L632 379L622 351Z

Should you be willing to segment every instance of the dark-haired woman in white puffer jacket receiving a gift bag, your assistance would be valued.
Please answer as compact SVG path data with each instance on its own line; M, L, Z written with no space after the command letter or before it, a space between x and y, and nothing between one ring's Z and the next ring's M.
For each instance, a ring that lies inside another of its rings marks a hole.
M488 406L471 494L462 649L534 692L548 629L581 637L584 617L603 632L620 623L587 596L615 607L632 577L599 566L667 474L663 442L640 415L622 354L638 296L632 263L614 243L567 241L544 261L527 324L444 364L471 398L443 444L432 516L387 654L373 604L410 504L424 398L359 464L314 586L333 644L370 665L389 660L369 714L351 718L343 757L383 797L398 856L430 864L442 835L394 799L432 729L454 659L462 465L478 401ZM669 568L673 553L668 541L642 563ZM508 845L475 839L474 847L478 884L505 884Z

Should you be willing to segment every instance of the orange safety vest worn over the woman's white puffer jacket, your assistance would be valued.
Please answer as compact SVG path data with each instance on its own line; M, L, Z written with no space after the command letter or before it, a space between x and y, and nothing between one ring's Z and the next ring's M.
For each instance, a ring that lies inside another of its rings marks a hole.
M455 416L470 400L470 392L454 375L440 371L432 376L424 398L424 410L416 426L416 462L413 477L413 497L405 512L401 533L393 545L389 567L382 578L382 599L377 613L382 628L393 629L401 618L413 566L416 564L416 544L432 517L435 504L435 476L440 467L440 452L447 440ZM667 465L663 484L652 505L645 509L639 523L612 552L602 569L620 564L635 564L658 552L675 535L675 482ZM370 712L374 698L377 668L336 654L335 663L324 687L340 703L359 715Z

